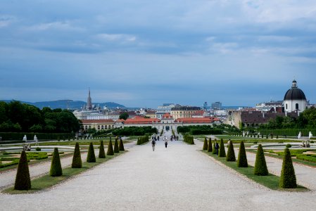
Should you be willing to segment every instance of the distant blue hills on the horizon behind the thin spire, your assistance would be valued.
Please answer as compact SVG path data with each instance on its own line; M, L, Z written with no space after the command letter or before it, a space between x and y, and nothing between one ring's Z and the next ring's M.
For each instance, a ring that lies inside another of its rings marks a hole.
M14 100L0 100L0 101L9 103ZM87 102L72 101L72 100L42 101L42 102L35 102L35 103L25 102L25 101L20 101L20 102L36 106L37 108L40 108L40 109L42 109L43 107L49 107L51 109L55 109L55 108L68 109L69 108L71 110L75 110L75 109L80 109L83 106L87 105ZM107 106L108 108L117 108L117 107L125 108L125 106L120 105L118 103L113 103L113 102L92 103L92 104L95 106L100 106L101 108L103 108L103 106Z

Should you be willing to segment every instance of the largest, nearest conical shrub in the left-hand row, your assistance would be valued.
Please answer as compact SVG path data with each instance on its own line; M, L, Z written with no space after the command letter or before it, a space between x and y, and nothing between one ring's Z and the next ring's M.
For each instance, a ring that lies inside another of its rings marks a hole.
M19 165L18 165L18 172L16 172L15 176L15 190L30 190L31 188L31 179L30 179L30 171L29 165L27 163L27 156L25 151L22 151Z

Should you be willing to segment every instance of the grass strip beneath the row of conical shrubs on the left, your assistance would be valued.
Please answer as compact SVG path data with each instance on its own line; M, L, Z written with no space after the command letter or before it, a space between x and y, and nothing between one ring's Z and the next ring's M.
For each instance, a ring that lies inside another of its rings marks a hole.
M50 188L51 186L54 186L61 181L65 181L66 179L70 179L71 177L80 174L82 172L85 172L92 167L95 167L96 165L99 165L103 162L106 162L112 158L118 157L122 153L125 153L126 151L122 151L120 153L117 153L116 155L107 155L106 158L96 158L96 162L82 162L82 168L72 168L67 167L63 169L63 176L61 177L51 177L49 174L44 175L43 177L39 177L37 179L33 179L31 181L32 188L29 191L16 191L13 189L13 186L10 188L5 189L2 191L3 193L10 193L10 194L20 194L20 193L34 193L37 191L42 191L46 188Z

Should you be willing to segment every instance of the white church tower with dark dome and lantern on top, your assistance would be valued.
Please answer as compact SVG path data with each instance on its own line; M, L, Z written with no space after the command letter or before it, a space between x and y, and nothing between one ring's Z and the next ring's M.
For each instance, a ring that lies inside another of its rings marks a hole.
M285 113L291 113L293 111L301 113L308 108L305 94L301 89L298 89L295 79L292 82L292 88L286 91L283 105Z

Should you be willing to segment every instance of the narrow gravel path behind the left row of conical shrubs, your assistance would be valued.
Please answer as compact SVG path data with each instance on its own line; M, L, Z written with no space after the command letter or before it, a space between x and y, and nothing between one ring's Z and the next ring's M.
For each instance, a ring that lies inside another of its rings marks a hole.
M130 148L134 146L134 142L125 143L125 148ZM105 146L105 150L107 151L107 147ZM96 156L99 155L99 149L95 149ZM82 160L87 159L87 152L81 153ZM61 166L62 167L68 167L72 163L72 156L68 158L61 158ZM30 165L30 177L32 179L40 177L44 174L47 174L51 168L51 161L47 162L40 162L39 164ZM8 186L12 186L15 181L15 175L16 175L17 169L8 170L4 172L0 172L0 190L4 189Z

